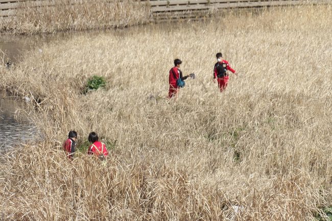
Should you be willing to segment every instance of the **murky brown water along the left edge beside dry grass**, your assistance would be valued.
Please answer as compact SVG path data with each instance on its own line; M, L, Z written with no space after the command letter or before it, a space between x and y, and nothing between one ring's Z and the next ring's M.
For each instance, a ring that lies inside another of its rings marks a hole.
M19 62L23 53L60 37L62 36L0 35L0 65L7 62L15 65L16 62ZM19 117L15 116L19 113L19 110L24 110L26 105L22 97L8 96L0 88L0 154L35 137L36 129L31 122L21 115Z

